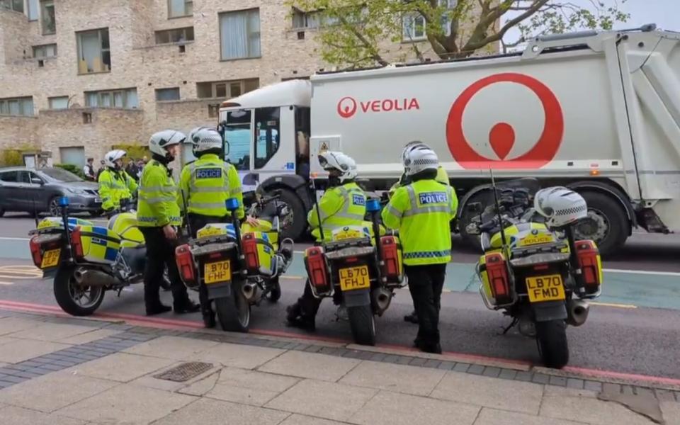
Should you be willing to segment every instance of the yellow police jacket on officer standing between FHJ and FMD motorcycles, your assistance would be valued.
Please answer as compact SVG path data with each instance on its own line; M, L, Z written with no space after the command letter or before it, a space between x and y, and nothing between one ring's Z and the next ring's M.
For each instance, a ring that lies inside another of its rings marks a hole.
M421 266L450 261L449 222L457 208L453 188L435 180L415 181L395 191L382 210L382 222L399 230L404 264Z

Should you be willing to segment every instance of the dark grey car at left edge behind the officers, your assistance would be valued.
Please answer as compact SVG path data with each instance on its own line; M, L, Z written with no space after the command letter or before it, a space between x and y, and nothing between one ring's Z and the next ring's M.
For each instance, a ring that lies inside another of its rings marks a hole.
M6 211L60 215L57 200L69 198L70 212L101 212L98 185L60 168L0 169L0 217Z

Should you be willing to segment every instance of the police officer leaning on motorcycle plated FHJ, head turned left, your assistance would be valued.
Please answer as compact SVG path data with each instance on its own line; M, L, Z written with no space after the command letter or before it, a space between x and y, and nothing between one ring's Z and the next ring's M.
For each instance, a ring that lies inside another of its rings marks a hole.
M362 225L366 214L366 196L355 183L356 162L342 152L326 151L319 154L319 164L328 171L329 188L319 200L317 206L307 215L312 234L317 243L322 242L319 232L319 215L324 231L324 239L329 239L332 229L338 227ZM314 318L319 311L321 300L314 297L310 280L305 283L305 292L295 304L288 306L286 319L292 326L314 330Z

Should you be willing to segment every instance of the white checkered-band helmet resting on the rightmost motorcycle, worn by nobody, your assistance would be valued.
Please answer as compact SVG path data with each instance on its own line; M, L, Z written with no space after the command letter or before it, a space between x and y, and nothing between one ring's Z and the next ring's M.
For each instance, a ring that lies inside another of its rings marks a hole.
M570 225L588 215L588 205L583 196L562 186L536 192L533 208L545 217L548 227Z

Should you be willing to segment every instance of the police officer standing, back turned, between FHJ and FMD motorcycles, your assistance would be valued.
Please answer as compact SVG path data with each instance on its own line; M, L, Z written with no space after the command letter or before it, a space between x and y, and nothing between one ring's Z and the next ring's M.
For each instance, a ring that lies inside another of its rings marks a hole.
M414 345L428 353L441 353L441 290L451 259L450 220L458 208L453 188L435 180L438 165L428 147L407 152L404 169L412 183L398 188L382 210L385 226L399 230L404 271L418 315Z

